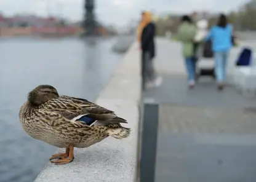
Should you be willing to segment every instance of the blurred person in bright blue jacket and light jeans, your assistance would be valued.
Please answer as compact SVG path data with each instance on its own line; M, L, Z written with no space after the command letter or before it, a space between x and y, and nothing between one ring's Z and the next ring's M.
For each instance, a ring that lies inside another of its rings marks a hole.
M206 41L211 39L212 51L215 59L215 76L217 79L218 90L223 90L226 77L226 66L228 55L232 44L233 27L225 15L221 14L218 18L218 23L209 31Z

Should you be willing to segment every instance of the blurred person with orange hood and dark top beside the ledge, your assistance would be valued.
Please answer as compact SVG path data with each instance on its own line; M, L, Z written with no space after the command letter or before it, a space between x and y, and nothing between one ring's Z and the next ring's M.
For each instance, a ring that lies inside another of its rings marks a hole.
M161 85L162 77L156 74L153 65L153 58L155 57L154 36L156 27L151 19L150 12L142 13L142 20L138 25L138 41L142 49L142 76L143 87L150 89Z

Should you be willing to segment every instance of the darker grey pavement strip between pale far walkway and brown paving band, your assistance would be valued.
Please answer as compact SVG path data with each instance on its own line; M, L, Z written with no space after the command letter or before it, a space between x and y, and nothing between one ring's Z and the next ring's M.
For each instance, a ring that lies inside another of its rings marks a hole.
M223 92L217 91L215 80L211 77L202 77L193 90L188 89L186 76L161 74L163 82L161 87L147 90L143 93L157 103L180 103L191 106L215 107L255 107L256 97L243 97L232 85Z

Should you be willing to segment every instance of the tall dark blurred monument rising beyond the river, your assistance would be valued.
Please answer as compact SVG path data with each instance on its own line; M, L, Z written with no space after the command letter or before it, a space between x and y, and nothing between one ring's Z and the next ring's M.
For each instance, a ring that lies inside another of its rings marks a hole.
M94 0L85 0L84 10L84 22L82 26L85 32L82 36L96 36L97 22L94 15Z

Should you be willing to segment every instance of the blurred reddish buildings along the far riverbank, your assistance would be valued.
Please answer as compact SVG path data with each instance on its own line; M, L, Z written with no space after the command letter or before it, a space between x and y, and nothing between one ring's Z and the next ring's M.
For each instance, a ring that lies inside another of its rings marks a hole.
M0 36L30 36L30 35L78 35L84 31L82 22L68 22L56 17L39 17L30 14L17 14L5 17L0 14ZM113 35L113 29L98 24L97 33L106 36Z

